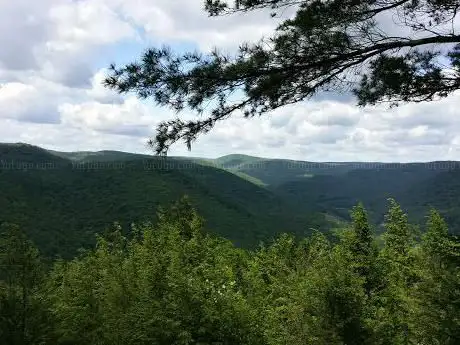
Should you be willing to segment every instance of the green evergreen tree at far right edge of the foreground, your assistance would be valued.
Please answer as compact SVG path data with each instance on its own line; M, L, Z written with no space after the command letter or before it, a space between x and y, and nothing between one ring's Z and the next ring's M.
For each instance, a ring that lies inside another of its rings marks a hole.
M422 241L421 282L415 289L418 341L460 343L460 245L438 212L430 212Z

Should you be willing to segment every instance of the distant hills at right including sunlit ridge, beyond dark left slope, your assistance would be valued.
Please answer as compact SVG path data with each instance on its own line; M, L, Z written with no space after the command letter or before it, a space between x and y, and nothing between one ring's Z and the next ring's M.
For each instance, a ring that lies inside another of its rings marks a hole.
M387 199L392 197L423 224L434 207L453 231L460 225L460 162L377 163L302 162L229 155L214 160L235 174L260 181L268 190L310 211L348 220L358 202L369 209L372 222L383 222Z

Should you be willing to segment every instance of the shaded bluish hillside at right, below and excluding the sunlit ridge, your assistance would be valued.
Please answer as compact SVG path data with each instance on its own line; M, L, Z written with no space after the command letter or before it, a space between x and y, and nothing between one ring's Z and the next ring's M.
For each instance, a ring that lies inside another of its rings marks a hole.
M452 164L388 164L359 168L336 175L316 175L272 188L276 194L308 204L310 211L348 218L348 211L363 202L374 223L382 223L387 199L395 198L416 223L423 223L430 207L438 209L452 225L459 224L460 170Z

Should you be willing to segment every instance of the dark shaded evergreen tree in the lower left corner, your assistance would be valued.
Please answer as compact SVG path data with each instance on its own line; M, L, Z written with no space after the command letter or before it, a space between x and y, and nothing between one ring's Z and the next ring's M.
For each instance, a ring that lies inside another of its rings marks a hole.
M0 339L5 345L41 344L49 328L41 295L44 267L38 250L13 224L0 238Z

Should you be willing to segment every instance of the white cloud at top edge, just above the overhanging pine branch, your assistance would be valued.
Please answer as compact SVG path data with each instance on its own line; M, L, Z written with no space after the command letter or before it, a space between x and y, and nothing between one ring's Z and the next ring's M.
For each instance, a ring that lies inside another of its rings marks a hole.
M141 26L154 42L194 42L205 51L215 46L235 48L242 41L259 40L272 33L282 19L270 18L267 12L211 18L203 10L203 1L106 1Z

